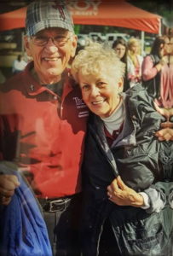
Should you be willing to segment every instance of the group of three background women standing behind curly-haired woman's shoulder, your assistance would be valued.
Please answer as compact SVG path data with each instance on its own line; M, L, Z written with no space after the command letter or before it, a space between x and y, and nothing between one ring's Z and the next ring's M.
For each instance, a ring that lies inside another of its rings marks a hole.
M141 44L137 38L130 38L128 42L119 38L113 42L112 49L126 65L124 91L142 82L148 94L157 99L159 105L170 107L173 95L168 82L170 57L173 54L170 43L168 36L158 36L153 41L150 53L141 55Z

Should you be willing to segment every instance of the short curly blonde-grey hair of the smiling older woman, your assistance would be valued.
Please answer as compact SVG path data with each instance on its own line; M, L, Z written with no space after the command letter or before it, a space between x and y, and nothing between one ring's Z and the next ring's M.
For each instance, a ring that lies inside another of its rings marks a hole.
M106 44L90 42L72 61L72 76L77 82L79 71L84 75L97 75L105 70L113 72L116 81L124 77L124 63Z

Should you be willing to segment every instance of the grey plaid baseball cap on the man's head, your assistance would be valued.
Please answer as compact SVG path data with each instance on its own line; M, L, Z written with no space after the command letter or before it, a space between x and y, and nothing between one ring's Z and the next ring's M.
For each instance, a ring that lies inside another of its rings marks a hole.
M61 27L74 32L70 12L63 0L36 1L29 4L26 11L26 35L31 37L49 27Z

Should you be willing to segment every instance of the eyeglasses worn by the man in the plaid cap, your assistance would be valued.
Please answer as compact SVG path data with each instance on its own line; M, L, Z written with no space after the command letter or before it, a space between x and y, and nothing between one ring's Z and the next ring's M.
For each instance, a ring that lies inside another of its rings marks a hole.
M54 38L51 38L53 43L55 44L56 47L63 47L68 40L70 39L66 38L64 36L56 36ZM37 45L37 46L45 46L46 44L48 44L50 38L47 38L45 36L41 36L41 35L37 35L37 36L33 36L32 40L33 40L33 44Z

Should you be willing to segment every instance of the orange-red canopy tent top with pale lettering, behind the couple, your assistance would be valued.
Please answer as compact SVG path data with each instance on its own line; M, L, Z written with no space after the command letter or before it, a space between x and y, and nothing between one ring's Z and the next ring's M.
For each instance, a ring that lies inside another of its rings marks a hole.
M123 0L66 0L74 24L121 26L159 33L159 15L153 15ZM25 27L26 7L0 15L0 31Z

